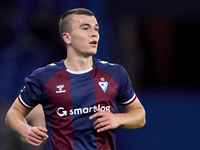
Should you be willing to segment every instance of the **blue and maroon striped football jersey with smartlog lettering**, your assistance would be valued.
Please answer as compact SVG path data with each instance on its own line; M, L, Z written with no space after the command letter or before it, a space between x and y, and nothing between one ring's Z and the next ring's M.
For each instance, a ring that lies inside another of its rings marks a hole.
M117 113L117 104L133 102L129 76L118 64L93 58L85 71L70 71L64 60L35 70L25 78L18 99L27 108L42 104L48 150L114 150L115 130L96 132L89 117L94 108Z

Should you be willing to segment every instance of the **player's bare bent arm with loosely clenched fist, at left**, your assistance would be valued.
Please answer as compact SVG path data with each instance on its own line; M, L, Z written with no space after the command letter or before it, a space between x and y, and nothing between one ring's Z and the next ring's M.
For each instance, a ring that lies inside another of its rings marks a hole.
M12 106L7 112L6 124L14 131L26 138L26 141L33 145L39 146L48 138L47 129L43 126L30 126L25 117L31 109L24 107L16 98Z

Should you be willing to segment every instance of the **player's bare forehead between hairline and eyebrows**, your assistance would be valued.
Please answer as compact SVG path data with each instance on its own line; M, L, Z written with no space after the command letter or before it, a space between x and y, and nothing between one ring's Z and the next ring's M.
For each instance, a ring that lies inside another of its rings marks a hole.
M72 18L73 18L72 26L81 25L81 24L90 24L91 26L95 26L98 24L94 16L73 15Z

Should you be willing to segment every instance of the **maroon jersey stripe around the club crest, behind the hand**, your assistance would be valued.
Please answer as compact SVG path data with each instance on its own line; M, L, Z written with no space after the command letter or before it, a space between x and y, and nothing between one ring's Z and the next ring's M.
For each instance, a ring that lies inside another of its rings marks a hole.
M105 72L93 69L92 72L95 88L96 105L100 104L101 108L110 106L110 112L114 112L113 101L115 99L117 84L113 78ZM108 82L107 89L104 91L99 82ZM105 109L106 110L106 109ZM96 145L98 150L113 150L114 138L111 130L96 133Z

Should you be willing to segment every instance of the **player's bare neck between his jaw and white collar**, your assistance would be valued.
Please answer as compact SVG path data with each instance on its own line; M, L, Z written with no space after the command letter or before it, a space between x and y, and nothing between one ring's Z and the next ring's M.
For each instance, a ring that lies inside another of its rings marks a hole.
M92 56L88 58L68 57L65 59L65 66L71 71L84 71L92 67Z

